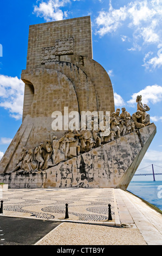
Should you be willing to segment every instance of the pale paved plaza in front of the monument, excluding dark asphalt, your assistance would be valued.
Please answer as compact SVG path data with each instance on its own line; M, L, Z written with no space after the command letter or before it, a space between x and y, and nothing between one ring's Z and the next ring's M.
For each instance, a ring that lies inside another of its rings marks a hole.
M1 196L4 202L0 218L59 223L35 245L162 245L160 212L120 189L9 189Z

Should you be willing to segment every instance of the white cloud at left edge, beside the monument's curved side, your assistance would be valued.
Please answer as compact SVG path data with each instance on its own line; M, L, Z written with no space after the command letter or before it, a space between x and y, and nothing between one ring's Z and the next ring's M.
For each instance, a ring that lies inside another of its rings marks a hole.
M0 107L10 112L10 116L20 119L23 112L24 83L17 77L0 75Z

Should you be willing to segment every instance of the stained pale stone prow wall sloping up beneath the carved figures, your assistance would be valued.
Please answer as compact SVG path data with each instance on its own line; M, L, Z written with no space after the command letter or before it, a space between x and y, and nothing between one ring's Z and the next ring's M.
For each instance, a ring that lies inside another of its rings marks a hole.
M51 167L43 174L35 173L33 183L34 173L5 174L4 178L0 175L0 182L8 180L10 187L114 187L126 190L155 133L154 124L145 126Z

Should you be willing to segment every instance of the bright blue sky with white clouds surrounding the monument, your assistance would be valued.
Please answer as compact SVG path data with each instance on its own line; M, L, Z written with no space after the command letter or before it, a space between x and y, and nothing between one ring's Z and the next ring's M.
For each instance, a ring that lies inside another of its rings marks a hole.
M87 15L92 21L93 59L111 78L115 108L124 106L133 114L137 94L151 107L157 135L139 169L152 163L162 167L162 0L3 1L0 159L22 123L24 84L20 78L26 68L29 25Z

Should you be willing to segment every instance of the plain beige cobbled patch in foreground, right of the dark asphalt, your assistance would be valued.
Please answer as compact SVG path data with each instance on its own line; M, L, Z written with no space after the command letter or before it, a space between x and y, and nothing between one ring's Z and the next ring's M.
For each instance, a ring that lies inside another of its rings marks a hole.
M62 223L36 245L146 245L138 229Z

